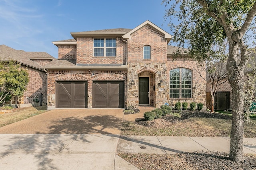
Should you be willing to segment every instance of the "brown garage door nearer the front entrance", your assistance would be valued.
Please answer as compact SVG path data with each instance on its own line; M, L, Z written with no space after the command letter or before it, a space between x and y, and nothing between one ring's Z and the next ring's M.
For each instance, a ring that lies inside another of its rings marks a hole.
M94 81L94 108L124 108L124 81Z

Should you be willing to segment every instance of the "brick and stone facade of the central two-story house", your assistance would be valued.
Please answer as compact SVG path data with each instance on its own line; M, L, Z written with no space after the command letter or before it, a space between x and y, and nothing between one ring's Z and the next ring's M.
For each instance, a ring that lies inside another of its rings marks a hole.
M196 62L188 59L188 57L173 58L168 56L167 43L169 40L165 37L168 33L155 28L154 25L145 24L137 30L126 33L123 36L124 39L120 35L116 36L116 57L94 57L94 38L88 34L86 34L88 37L76 35L76 47L60 45L59 59L76 59L76 66L82 69L65 70L64 67L64 70L48 69L48 106L52 108L56 106L56 80L86 80L88 82L88 108L92 108L92 83L94 80L124 80L125 107L132 105L138 108L140 107L140 77L148 77L149 101L147 105L150 107L160 107L166 102L174 106L178 101L201 102L206 105L205 71L199 72ZM103 33L103 37L98 36L97 38L109 38L105 34L106 32ZM150 59L143 59L144 46L151 48ZM76 53L74 52L75 49ZM102 69L86 69L86 66L93 64L97 66L101 64ZM104 70L106 64L127 64L127 70L118 71L115 68ZM192 70L192 98L170 98L169 72L174 68ZM160 81L163 81L162 85Z

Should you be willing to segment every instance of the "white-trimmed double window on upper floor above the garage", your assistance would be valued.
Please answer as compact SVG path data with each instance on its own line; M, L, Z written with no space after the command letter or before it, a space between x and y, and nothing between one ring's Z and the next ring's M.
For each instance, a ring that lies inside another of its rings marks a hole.
M116 57L116 39L95 38L93 40L94 57Z

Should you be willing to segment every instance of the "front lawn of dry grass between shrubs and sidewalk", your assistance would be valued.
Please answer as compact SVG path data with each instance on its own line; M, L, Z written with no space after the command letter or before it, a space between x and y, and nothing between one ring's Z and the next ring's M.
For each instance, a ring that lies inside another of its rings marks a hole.
M254 123L256 121L252 120ZM256 137L256 125L244 125L244 137ZM166 115L153 121L124 121L122 135L230 137L231 116L206 111L182 111L181 117Z

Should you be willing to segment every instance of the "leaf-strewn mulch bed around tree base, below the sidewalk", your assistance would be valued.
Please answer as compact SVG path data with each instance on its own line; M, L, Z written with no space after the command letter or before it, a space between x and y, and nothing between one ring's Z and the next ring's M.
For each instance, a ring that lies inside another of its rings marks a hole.
M118 155L141 170L256 170L252 154L246 154L244 162L229 160L226 152Z

